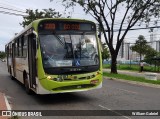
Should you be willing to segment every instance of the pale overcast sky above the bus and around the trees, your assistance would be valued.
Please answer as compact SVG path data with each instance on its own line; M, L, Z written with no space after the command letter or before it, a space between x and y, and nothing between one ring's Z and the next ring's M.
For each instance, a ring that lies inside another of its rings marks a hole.
M2 9L2 7L23 12L25 12L26 9L42 10L42 9L52 8L64 15L65 8L63 7L61 1L62 0L53 0L52 2L50 2L50 0L0 0L0 51L5 50L5 44L8 43L13 38L15 33L19 33L21 30L23 30L23 27L20 26L20 23L23 21L23 17L3 14L1 11L5 12L14 12L14 11ZM79 6L75 8L74 13L72 14L72 18L81 18L81 19L95 21L92 16L86 15L83 9ZM157 32L158 31L155 31L155 33ZM127 42L131 43L135 42L135 39L137 39L137 37L140 34L146 36L147 37L146 39L149 40L150 34L148 30L139 30L139 31L130 31L126 36ZM102 39L102 41L104 41L104 39Z

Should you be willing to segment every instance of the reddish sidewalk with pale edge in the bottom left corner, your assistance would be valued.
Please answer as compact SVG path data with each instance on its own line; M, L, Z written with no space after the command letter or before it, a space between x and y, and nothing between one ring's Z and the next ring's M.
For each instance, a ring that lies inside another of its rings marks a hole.
M10 107L8 106L8 101L5 97L5 94L1 93L1 92L0 92L0 110L2 110L2 111L3 110L4 111L10 110ZM2 112L0 111L0 113L2 113ZM8 116L0 116L0 119L8 119L8 118L9 118Z

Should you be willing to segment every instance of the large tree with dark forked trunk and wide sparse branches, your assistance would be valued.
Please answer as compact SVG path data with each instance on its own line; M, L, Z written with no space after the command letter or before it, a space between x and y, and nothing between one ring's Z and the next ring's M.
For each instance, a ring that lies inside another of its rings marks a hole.
M158 17L160 7L159 0L63 0L63 3L66 9L80 5L99 23L111 53L111 73L117 73L117 55L128 31L138 21L148 23L151 17Z

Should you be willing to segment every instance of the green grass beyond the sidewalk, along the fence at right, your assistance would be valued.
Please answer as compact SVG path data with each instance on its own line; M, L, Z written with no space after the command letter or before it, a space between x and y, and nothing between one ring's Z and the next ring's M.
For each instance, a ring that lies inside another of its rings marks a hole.
M103 68L110 68L110 64L103 64ZM117 65L117 69L118 70L129 70L129 71L139 71L140 67L139 65L129 65L129 64L118 64ZM144 70L143 71L147 71L147 72L158 72L158 68L155 69L154 66L144 66Z

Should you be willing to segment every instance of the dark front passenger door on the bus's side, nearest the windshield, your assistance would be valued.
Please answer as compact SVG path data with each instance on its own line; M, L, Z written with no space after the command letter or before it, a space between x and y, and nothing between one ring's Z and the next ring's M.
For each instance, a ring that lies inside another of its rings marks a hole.
M36 36L34 34L30 34L28 36L28 68L31 88L36 88L36 51Z

